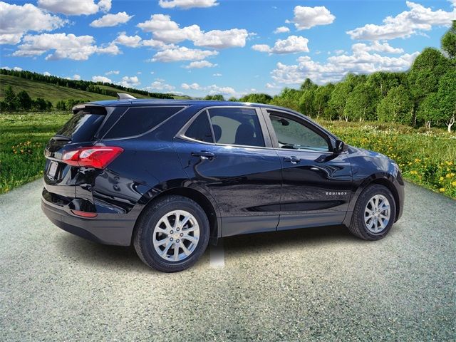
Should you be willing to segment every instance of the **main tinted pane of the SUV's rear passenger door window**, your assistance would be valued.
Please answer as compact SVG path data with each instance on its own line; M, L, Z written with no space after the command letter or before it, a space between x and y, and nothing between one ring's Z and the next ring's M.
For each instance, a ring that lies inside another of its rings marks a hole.
M215 142L228 145L264 146L257 112L251 108L213 108L209 116Z

